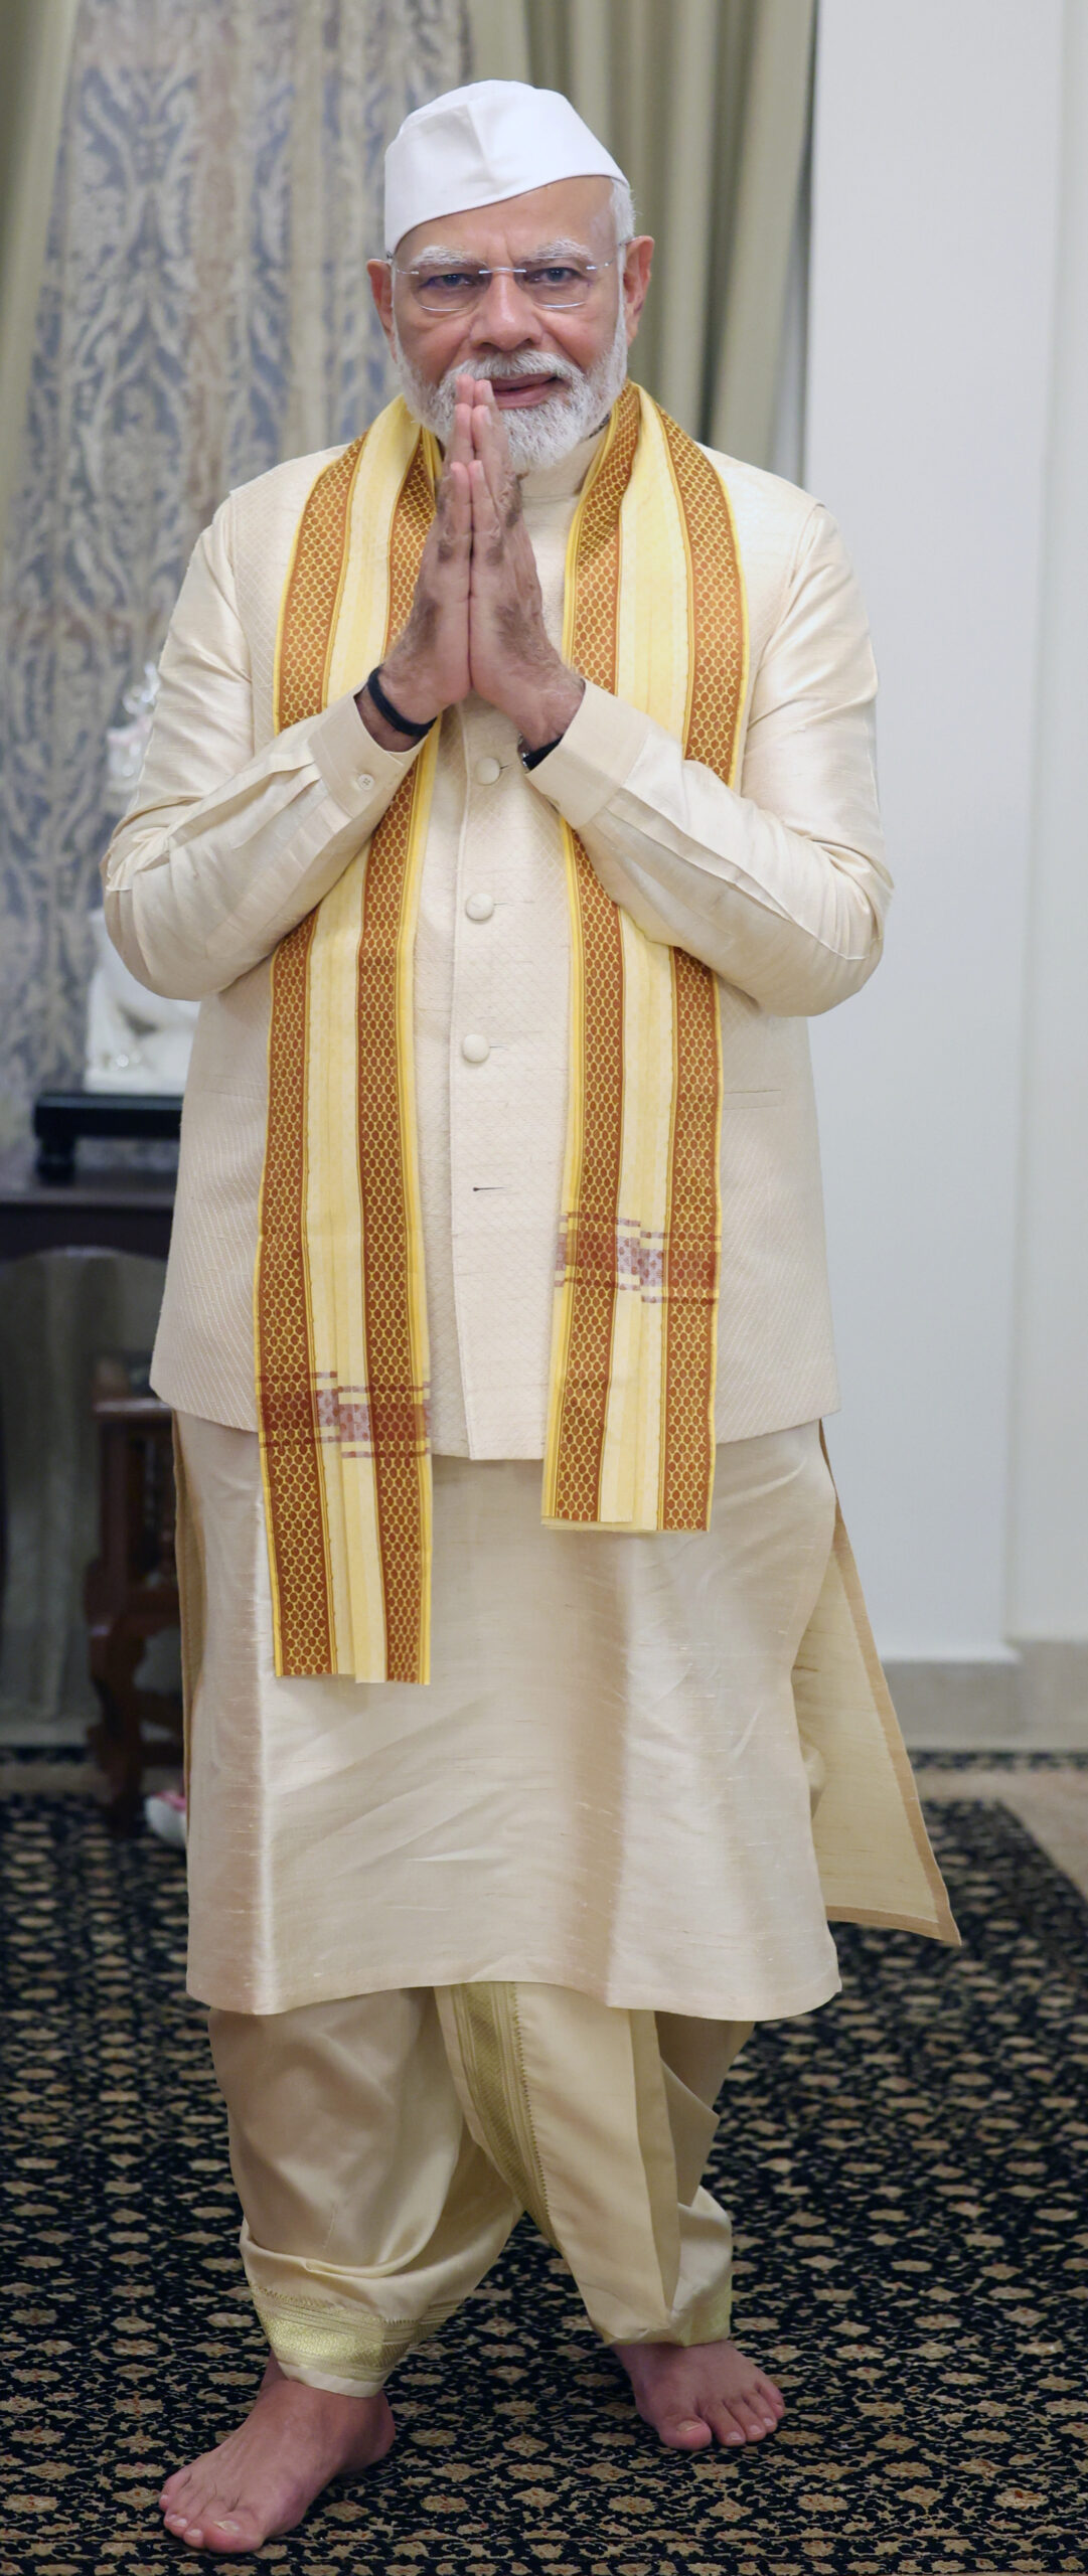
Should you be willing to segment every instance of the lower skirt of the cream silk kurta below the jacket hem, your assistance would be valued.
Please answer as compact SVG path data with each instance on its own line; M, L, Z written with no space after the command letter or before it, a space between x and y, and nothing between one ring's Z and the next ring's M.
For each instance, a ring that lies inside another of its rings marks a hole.
M534 1466L438 1458L428 1687L276 1680L255 1435L178 1430L201 2002L518 1978L755 2022L835 1991L792 1698L817 1425L722 1448L709 1533L541 1528Z

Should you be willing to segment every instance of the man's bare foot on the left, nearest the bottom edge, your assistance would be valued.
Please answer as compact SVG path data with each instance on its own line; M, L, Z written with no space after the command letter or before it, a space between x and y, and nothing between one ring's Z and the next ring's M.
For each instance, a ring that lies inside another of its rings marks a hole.
M191 2550L240 2558L291 2532L330 2478L384 2460L392 2437L384 2396L338 2398L330 2388L286 2380L268 2360L240 2432L165 2481L165 2527Z

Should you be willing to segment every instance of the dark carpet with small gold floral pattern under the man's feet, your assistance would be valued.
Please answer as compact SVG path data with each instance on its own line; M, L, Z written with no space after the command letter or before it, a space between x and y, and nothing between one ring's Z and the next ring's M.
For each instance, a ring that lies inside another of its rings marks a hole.
M781 2378L781 2434L663 2452L523 2221L397 2372L392 2460L232 2566L1088 2568L1088 1909L1003 1806L957 1798L933 1839L964 1953L840 1927L843 1996L763 2027L727 2084L737 2331ZM237 2419L263 2357L183 1996L183 1868L64 1793L5 1798L0 1850L0 2576L160 2576L188 2553L157 2481Z

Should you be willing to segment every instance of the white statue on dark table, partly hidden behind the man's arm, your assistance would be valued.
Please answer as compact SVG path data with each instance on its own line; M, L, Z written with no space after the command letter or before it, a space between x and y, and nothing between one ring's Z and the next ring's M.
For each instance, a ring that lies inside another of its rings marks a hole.
M155 662L144 665L139 688L121 706L129 724L106 734L106 778L121 814L144 765L147 734L157 693ZM90 914L95 963L88 989L85 1092L183 1092L199 1002L165 1002L129 974L106 933L106 914Z

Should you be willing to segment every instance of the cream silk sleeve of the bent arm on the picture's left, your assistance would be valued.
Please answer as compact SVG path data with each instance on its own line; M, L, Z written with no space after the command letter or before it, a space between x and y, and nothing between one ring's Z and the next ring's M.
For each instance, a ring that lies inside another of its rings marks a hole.
M204 999L248 974L320 904L413 757L384 752L353 698L253 750L224 502L188 564L137 796L103 858L108 933L139 984Z

